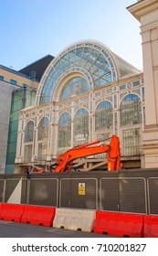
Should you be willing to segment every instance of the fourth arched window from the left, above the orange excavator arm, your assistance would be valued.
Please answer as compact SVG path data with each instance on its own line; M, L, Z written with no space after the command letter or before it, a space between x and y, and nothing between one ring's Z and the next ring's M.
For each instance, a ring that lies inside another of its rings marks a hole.
M89 112L79 109L74 117L73 145L89 143Z

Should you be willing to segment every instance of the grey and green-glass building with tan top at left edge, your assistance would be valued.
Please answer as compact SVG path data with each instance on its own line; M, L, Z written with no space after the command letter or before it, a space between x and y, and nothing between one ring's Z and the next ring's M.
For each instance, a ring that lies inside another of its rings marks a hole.
M37 80L32 80L23 73L0 65L0 173L13 173L15 169L18 112L24 105L18 104L15 109L13 95L26 87L37 90L37 85Z

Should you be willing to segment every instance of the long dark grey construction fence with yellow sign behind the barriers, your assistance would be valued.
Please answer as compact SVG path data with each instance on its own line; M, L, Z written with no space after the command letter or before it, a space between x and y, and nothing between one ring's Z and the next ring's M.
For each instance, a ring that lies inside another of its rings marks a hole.
M0 202L158 215L158 170L0 175Z

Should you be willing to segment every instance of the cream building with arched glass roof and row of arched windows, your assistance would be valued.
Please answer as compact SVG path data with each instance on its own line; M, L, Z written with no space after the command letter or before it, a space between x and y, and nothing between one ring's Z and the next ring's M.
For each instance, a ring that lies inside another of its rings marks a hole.
M33 107L19 116L16 171L48 165L68 148L106 139L121 140L125 168L142 165L144 87L142 71L98 41L84 40L49 63ZM78 159L80 168L106 167L106 155Z

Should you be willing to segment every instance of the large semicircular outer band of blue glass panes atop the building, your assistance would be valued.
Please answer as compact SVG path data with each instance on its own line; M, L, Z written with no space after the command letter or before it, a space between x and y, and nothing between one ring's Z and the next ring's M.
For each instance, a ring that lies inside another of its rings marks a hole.
M38 104L52 101L53 92L68 73L81 72L89 79L90 88L116 80L116 68L110 53L100 45L82 43L62 52L46 72L38 91Z

